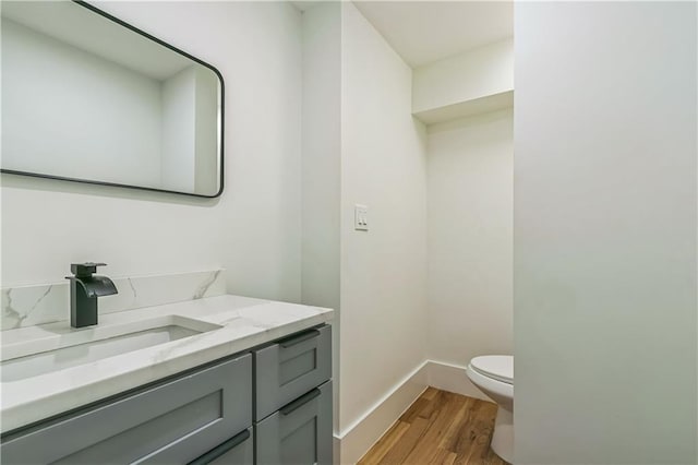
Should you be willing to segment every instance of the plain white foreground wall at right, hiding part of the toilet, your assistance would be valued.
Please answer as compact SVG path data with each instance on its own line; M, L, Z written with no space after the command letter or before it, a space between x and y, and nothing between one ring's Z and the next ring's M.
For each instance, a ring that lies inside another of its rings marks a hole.
M516 3L517 464L698 458L696 8Z

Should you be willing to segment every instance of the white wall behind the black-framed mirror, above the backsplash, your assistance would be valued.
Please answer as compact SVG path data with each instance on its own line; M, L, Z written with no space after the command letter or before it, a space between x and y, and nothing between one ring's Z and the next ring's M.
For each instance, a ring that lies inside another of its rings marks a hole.
M230 293L299 301L300 12L285 2L100 7L220 70L226 190L206 201L3 175L2 285L60 281L85 260L112 276L224 266Z

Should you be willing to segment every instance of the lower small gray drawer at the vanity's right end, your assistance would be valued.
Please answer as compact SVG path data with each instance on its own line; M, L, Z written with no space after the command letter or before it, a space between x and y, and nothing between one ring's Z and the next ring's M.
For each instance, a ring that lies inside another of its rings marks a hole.
M255 426L258 464L332 464L332 381Z

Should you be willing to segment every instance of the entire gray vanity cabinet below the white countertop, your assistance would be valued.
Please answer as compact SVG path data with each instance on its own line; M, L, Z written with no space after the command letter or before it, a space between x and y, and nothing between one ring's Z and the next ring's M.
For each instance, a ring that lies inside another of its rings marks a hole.
M4 434L0 461L328 465L330 377L324 325Z

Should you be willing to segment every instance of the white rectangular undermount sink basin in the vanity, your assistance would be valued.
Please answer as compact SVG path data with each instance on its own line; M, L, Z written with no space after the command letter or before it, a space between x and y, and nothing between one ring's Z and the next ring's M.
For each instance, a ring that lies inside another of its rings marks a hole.
M2 347L0 381L19 381L124 353L182 339L221 326L180 315L119 325L69 330L64 334Z

